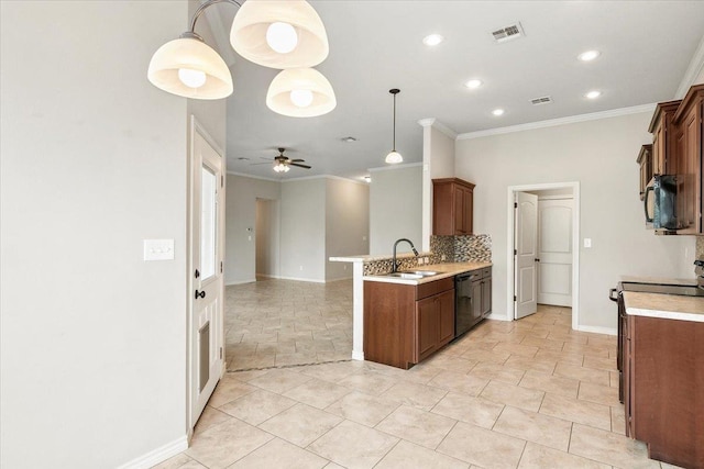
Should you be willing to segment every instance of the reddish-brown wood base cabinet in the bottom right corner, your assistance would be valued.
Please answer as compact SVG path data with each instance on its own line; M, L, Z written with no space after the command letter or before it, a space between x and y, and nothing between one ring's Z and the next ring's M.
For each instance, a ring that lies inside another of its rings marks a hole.
M632 316L624 331L626 435L650 458L704 467L704 323Z

